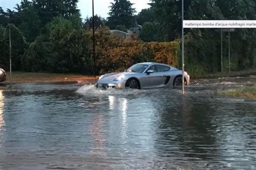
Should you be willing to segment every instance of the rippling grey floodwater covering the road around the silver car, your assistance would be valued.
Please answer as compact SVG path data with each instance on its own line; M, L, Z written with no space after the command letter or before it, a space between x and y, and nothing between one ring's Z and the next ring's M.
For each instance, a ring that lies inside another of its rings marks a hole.
M251 83L233 80L0 86L0 169L255 169L256 102L211 92Z

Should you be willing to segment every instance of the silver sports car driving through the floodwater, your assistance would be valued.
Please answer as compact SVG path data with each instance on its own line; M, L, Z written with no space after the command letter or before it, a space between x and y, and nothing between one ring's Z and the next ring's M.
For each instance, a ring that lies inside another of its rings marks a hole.
M185 85L190 76L185 72ZM96 87L147 89L182 86L182 71L156 62L137 63L123 73L109 73L99 77Z

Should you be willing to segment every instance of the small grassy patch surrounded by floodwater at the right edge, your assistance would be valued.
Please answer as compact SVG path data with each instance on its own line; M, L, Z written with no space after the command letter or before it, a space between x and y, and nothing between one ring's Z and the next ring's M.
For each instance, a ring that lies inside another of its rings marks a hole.
M229 90L224 90L224 91L218 91L217 94L220 96L256 99L256 84L252 87L244 87L244 88L238 88L238 89L229 89Z

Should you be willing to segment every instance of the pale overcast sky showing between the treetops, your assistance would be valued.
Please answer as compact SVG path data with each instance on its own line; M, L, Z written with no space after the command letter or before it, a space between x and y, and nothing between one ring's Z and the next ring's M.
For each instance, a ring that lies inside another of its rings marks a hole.
M108 17L107 13L109 12L110 3L114 2L113 0L94 0L95 5L95 15L101 17ZM150 6L147 3L150 3L150 0L130 0L131 3L134 3L133 8L136 8L137 12L140 12L144 8L149 8ZM4 10L7 8L13 9L16 4L21 3L21 0L0 0L0 6ZM81 11L82 17L86 18L92 16L92 0L79 0L78 8Z

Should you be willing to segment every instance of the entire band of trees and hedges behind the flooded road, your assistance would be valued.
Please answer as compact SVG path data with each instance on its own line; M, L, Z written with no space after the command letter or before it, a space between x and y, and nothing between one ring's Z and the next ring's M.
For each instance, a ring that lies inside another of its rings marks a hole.
M0 64L9 66L11 27L12 68L32 72L93 73L92 17L82 23L77 2L22 0L14 9L4 11L0 7ZM97 74L123 70L140 61L159 61L181 68L181 1L151 2L151 8L143 9L136 17L133 4L128 0L111 3L107 20L95 16ZM187 20L256 19L255 0L184 2ZM136 25L136 21L143 25L140 40L134 35L124 40L114 37L109 31L126 31ZM235 29L230 34L231 69L255 67L256 30ZM224 70L228 69L227 40L225 32ZM185 30L185 65L192 75L220 71L220 32L215 29Z

